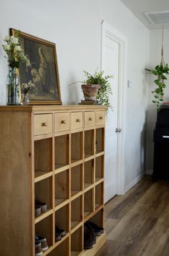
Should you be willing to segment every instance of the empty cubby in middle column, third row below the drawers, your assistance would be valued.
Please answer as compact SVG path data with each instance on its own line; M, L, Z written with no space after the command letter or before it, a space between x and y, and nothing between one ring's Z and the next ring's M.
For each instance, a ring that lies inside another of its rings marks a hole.
M82 221L82 196L71 202L71 228L77 226Z

